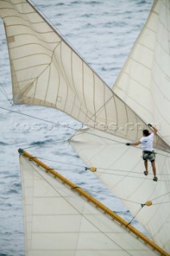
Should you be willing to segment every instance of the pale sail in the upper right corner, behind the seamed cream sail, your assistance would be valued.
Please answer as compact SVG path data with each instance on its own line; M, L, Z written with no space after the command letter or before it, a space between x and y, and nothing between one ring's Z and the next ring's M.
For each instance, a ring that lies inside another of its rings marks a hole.
M156 0L113 91L170 145L170 1Z

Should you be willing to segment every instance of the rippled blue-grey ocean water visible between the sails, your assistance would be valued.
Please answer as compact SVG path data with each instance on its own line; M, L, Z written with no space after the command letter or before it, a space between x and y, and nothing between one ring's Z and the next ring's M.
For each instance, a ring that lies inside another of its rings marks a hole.
M34 6L60 31L111 87L124 65L152 6L152 0L34 0ZM5 32L0 22L0 256L23 256L22 187L18 148L85 187L122 217L132 218L67 143L81 124L65 114L38 106L13 106ZM22 112L36 118L18 114ZM60 123L55 126L50 122ZM64 125L64 126L62 126ZM28 148L28 149L27 149ZM48 159L48 160L47 160ZM55 162L49 162L49 160ZM66 164L68 163L69 164ZM138 226L135 222L134 225Z

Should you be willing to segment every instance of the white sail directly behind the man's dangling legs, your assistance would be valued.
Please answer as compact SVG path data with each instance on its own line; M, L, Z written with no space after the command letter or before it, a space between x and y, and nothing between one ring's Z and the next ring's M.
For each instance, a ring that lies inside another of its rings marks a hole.
M156 150L156 174L144 161L138 147L125 146L125 140L99 130L79 130L69 143L86 166L94 166L94 174L121 198L132 215L148 231L152 240L170 253L170 154ZM152 201L152 206L143 206Z

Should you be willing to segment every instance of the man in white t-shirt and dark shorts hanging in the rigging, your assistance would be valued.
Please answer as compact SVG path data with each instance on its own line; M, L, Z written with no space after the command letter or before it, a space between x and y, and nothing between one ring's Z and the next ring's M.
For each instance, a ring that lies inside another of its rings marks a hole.
M148 130L143 130L144 137L140 138L139 142L134 143L126 143L127 146L138 146L141 144L141 149L143 151L143 159L144 159L144 175L148 175L148 160L152 164L152 171L153 171L153 181L157 182L156 177L156 165L155 165L155 152L153 151L153 136L157 133L157 129L153 127L151 124L148 124L148 126L152 127L152 134L149 133Z

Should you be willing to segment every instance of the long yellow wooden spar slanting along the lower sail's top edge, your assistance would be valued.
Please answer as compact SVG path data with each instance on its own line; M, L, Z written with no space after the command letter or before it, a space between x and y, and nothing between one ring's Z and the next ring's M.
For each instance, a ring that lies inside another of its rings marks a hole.
M87 193L85 190L82 190L81 187L75 185L73 182L70 182L67 178L62 176L61 174L58 174L56 170L53 170L53 168L50 168L49 166L45 165L45 163L41 162L38 160L38 158L35 158L33 155L29 154L25 150L19 149L18 150L19 154L24 156L25 158L28 158L30 161L35 162L38 166L41 166L46 172L49 172L50 174L53 174L54 178L58 178L69 186L72 190L77 191L80 196L83 196L86 198L89 202L92 202L93 205L97 206L100 208L105 214L108 214L113 220L116 222L119 222L122 227L127 229L129 232L132 234L136 235L136 238L140 238L143 242L145 242L148 246L151 246L153 250L156 250L160 255L163 256L170 256L170 254L166 253L163 249L160 248L160 246L157 246L152 240L144 236L139 230L136 230L133 226L131 226L128 222L126 222L123 218L121 218L119 215L115 214L113 210L110 210L108 207L103 205L101 202L99 202L96 198L93 198L89 193ZM148 205L148 204L146 204Z

